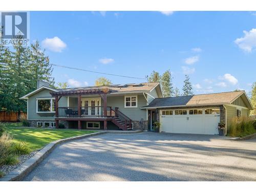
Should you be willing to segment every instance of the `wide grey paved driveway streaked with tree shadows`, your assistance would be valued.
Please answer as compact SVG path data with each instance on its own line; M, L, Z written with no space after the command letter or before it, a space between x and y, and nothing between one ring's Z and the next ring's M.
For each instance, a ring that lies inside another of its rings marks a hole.
M256 181L256 139L104 134L62 144L25 181Z

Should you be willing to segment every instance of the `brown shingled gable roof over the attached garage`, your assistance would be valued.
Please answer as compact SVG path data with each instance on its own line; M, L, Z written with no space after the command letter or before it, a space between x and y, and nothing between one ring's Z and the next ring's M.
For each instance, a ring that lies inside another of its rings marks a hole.
M167 108L179 106L231 104L240 96L242 96L242 98L246 101L247 107L252 110L253 107L244 91L156 98L149 105L144 106L141 109L157 107Z

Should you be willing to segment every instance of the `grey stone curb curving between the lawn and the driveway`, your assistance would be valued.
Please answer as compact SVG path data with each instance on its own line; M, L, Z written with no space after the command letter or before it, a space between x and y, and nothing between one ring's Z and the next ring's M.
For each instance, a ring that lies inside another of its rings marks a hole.
M68 142L68 141L73 141L73 140L78 140L78 139L83 139L87 137L92 137L96 135L101 135L105 134L107 132L97 132L97 133L91 133L87 135L79 135L79 136L74 136L66 139L59 139L56 141L53 141L46 145L44 148L42 148L39 152L37 152L33 157L25 161L22 165L18 166L14 170L12 170L11 173L8 175L4 176L3 178L0 178L0 181L20 181L24 177L26 177L31 170L36 167L42 160L44 160L53 150L54 148L62 143Z

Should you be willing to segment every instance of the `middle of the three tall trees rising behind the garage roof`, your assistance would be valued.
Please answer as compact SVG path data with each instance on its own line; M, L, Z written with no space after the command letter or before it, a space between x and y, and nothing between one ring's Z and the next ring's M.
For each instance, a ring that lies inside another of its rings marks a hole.
M172 75L170 70L167 70L163 73L161 78L161 86L164 97L172 97L174 95Z

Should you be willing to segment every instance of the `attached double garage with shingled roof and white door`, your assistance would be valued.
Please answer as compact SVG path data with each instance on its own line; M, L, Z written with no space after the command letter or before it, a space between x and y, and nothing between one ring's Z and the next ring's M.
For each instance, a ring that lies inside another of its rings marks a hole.
M150 129L155 121L160 132L218 134L218 123L226 129L233 117L249 116L252 104L244 91L156 98L147 106Z

